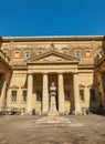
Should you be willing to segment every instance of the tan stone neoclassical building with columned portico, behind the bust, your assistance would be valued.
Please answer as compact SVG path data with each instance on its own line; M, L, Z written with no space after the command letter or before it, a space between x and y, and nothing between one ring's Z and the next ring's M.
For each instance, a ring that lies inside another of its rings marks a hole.
M94 68L104 41L104 35L2 37L1 110L24 113L34 110L36 114L48 114L52 82L56 86L60 114L98 109Z

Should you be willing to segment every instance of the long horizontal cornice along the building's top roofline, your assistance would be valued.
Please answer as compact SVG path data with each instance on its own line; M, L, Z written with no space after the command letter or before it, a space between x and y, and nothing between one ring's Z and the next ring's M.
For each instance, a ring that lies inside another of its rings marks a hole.
M32 42L32 41L98 41L104 35L49 35L49 37L2 37L2 42Z

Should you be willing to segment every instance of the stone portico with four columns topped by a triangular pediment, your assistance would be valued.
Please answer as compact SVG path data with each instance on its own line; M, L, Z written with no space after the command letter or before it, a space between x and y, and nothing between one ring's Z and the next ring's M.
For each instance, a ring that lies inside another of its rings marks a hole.
M62 59L62 61L54 61L55 59ZM44 61L48 59L48 61ZM28 61L28 101L27 111L32 113L35 109L33 103L35 97L40 93L41 102L39 103L42 114L46 114L50 109L50 84L52 82L56 85L56 109L60 114L70 112L70 109L75 110L75 113L81 112L80 96L78 96L78 83L77 83L77 63L76 59L60 55L54 51L46 53L38 59ZM75 86L74 86L75 85ZM65 101L67 96L67 101ZM65 106L67 103L67 107Z

